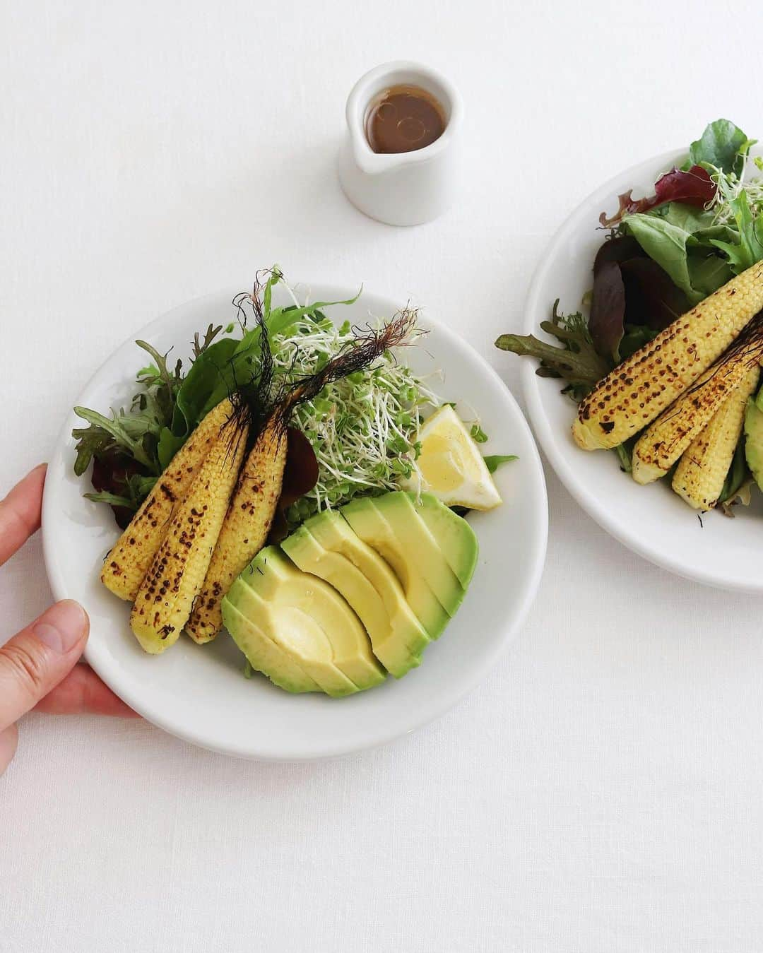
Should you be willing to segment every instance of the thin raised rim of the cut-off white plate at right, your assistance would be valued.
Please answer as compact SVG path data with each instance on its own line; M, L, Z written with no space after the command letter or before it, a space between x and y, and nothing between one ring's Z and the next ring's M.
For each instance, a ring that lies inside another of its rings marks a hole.
M545 247L543 257L536 265L532 274L530 288L525 298L525 317L522 322L523 333L537 333L537 316L543 313L544 308L544 303L540 299L542 285L545 284L554 257L564 245L565 240L569 237L567 232L572 221L582 210L593 205L599 198L604 199L612 192L618 192L622 180L626 177L639 175L646 169L653 169L657 172L665 166L677 164L685 156L685 148L682 150L672 149L643 159L641 162L633 163L621 172L612 175L612 177L601 186L594 189L578 202L572 209L572 212L565 217L556 232L553 233L551 241L548 242ZM546 311L548 311L548 307L546 307ZM548 457L556 476L558 476L567 492L578 505L592 517L594 522L633 553L636 553L641 558L646 559L661 569L668 570L675 576L728 592L753 595L759 595L763 592L763 579L761 579L759 586L751 586L745 582L734 579L731 575L727 578L719 578L712 571L705 572L700 567L687 569L678 558L672 557L670 553L656 552L644 539L637 536L636 531L626 525L621 525L618 520L614 519L608 513L607 508L598 502L595 495L589 492L584 483L575 475L574 470L569 466L559 449L559 436L552 428L551 421L544 410L541 397L540 381L547 378L536 375L535 368L536 364L534 362L523 360L519 369L522 393L525 397L528 414L531 419L532 431L543 453ZM572 426L572 416L570 420Z

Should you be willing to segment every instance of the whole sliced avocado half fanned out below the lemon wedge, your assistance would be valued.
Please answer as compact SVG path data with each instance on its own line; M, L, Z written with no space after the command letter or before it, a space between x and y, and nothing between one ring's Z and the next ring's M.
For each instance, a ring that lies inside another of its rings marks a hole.
M430 494L357 499L252 559L223 620L252 668L280 688L351 695L420 664L476 559L471 526Z

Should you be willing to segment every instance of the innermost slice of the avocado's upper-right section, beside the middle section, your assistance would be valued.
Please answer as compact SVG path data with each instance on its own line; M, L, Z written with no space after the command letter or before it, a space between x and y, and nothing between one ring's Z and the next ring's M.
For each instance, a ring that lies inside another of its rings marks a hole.
M417 514L412 514L409 526L399 512L388 519L384 507L374 505L383 499L352 500L339 512L357 536L389 562L414 615L430 639L437 639L464 598L464 590L437 546L432 546L432 536ZM436 593L432 578L440 582Z

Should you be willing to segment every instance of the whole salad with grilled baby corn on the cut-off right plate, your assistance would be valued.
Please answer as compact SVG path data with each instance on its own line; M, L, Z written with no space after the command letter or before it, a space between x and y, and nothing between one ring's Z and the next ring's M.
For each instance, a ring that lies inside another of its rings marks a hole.
M690 506L748 503L763 487L763 170L719 119L661 175L619 196L582 312L558 301L533 335L497 347L540 362L578 404L584 450L612 449L638 483L667 477Z

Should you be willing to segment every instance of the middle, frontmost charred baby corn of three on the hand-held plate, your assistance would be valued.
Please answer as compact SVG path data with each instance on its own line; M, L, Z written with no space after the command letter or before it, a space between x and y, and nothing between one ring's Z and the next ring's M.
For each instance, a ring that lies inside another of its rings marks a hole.
M175 510L132 606L135 638L152 655L175 642L191 615L244 456L248 425L231 418Z

